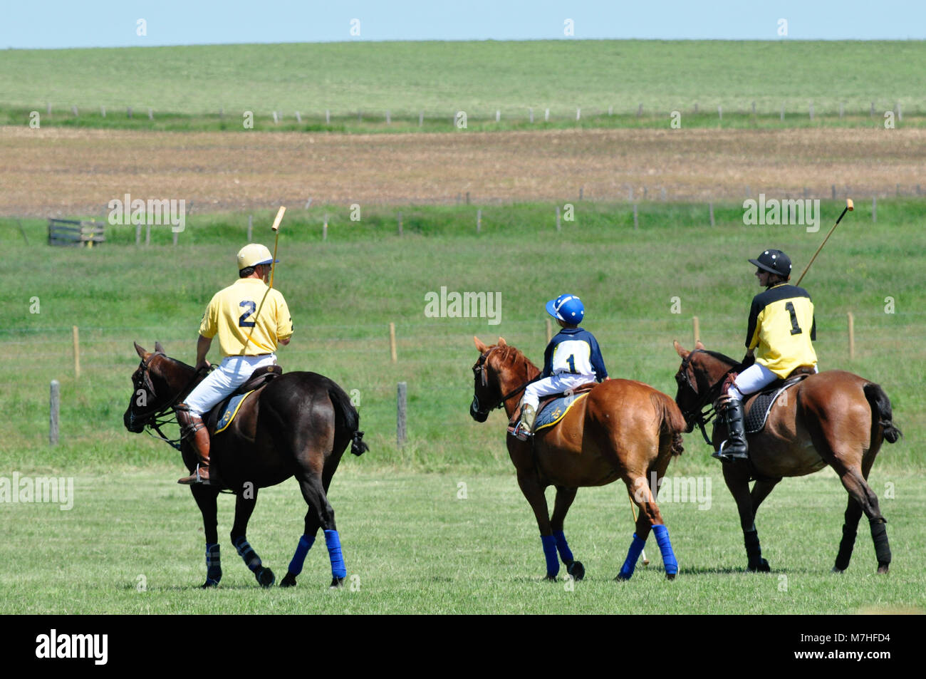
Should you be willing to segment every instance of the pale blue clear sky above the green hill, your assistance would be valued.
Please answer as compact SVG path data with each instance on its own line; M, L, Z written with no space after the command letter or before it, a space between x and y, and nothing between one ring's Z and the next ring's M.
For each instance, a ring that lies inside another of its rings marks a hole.
M582 38L922 40L926 1L0 0L0 49Z

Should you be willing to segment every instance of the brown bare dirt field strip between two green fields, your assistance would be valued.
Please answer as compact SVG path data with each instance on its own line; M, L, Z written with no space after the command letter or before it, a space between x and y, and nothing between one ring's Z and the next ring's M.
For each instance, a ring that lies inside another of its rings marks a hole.
M319 203L830 197L926 189L926 130L434 134L0 127L0 214L96 214L129 193L197 211Z

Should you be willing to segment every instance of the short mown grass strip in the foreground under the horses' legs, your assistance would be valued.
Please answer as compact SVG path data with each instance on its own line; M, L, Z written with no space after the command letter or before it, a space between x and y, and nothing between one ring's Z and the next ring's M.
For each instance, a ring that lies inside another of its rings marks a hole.
M190 493L176 470L80 475L74 507L3 509L0 613L856 613L923 612L926 547L919 476L886 474L871 482L883 495L894 561L875 574L863 525L852 565L830 572L841 536L845 491L832 472L786 479L760 509L758 530L770 573L746 573L736 509L711 472L709 509L663 502L681 572L665 580L658 549L647 541L628 583L613 582L632 524L622 486L582 489L566 534L586 579L543 582L536 524L513 472L383 474L370 458L344 459L330 497L344 543L348 585L328 589L324 542L312 547L294 589L262 590L234 553L228 531L232 498L219 498L223 578L205 580L203 535ZM673 462L669 476L703 474ZM458 498L459 483L466 498ZM705 482L707 483L707 481ZM705 486L707 487L707 486ZM550 496L552 497L552 491ZM707 497L707 496L705 496ZM707 507L707 503L701 506ZM302 532L305 505L293 481L260 491L248 540L277 575L286 572ZM24 546L29 546L24 548ZM565 571L561 572L565 575Z

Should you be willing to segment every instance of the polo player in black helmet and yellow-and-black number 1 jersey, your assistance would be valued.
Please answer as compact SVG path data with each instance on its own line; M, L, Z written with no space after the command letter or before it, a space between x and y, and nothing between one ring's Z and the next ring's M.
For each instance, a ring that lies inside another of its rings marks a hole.
M788 377L798 368L817 371L817 353L811 344L817 339L813 302L807 290L788 284L791 258L781 250L766 250L749 262L756 265L758 283L766 291L753 297L749 309L743 362L752 365L740 372L727 390L724 419L730 434L713 455L720 459L748 457L743 423L745 396Z

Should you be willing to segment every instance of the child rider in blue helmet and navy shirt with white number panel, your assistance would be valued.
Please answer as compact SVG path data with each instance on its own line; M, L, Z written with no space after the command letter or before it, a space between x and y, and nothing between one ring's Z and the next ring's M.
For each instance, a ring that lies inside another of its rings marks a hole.
M562 330L546 346L544 371L524 388L520 421L512 432L521 441L532 435L541 396L563 394L580 384L607 380L597 340L592 333L578 327L585 316L582 300L575 295L559 295L546 303L546 312Z

